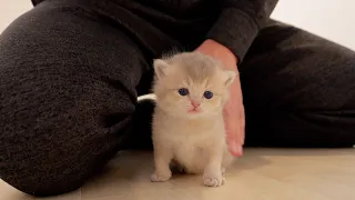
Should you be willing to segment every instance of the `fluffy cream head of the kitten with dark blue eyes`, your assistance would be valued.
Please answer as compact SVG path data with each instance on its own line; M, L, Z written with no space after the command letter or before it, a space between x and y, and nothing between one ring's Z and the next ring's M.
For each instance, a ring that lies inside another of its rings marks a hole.
M197 52L154 60L156 106L175 117L199 118L222 111L235 72Z

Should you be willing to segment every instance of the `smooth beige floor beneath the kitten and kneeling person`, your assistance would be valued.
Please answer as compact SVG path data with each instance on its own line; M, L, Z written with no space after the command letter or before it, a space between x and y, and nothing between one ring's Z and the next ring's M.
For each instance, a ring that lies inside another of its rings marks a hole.
M45 200L355 200L355 149L247 149L221 188L201 186L201 178L149 181L149 152L122 152L104 173L80 190ZM36 199L0 182L1 200Z

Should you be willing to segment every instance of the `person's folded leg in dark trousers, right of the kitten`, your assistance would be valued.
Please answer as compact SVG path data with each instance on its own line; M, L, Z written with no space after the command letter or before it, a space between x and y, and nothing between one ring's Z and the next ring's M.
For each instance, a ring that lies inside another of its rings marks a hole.
M246 146L355 144L355 52L270 22L240 66Z

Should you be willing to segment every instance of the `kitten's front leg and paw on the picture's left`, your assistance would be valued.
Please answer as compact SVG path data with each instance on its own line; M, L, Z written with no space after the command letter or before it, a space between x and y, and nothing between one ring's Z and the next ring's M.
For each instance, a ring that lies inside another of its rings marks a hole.
M159 146L154 147L155 171L151 176L152 182L164 182L171 178L170 162L172 158L173 153L170 149Z

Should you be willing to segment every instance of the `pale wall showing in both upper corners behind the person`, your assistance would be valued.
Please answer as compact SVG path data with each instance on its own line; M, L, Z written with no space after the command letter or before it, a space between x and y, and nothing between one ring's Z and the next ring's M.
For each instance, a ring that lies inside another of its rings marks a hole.
M0 32L30 0L0 0ZM280 0L272 18L292 23L355 50L355 0Z

